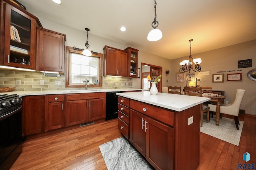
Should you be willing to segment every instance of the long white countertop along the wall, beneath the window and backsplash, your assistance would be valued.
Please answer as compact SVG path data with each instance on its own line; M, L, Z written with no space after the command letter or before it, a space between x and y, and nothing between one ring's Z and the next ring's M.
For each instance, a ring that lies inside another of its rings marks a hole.
M75 93L100 93L100 92L123 92L142 90L137 88L115 88L115 89L88 89L88 90L42 90L42 91L12 91L2 92L0 94L18 94L20 97L47 95L47 94L75 94Z

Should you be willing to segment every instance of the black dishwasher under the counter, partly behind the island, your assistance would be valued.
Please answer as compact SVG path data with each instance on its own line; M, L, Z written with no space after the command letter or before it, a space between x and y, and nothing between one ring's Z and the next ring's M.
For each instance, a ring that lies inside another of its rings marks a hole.
M117 93L123 92L107 92L106 93L106 119L115 119L118 117L118 96Z

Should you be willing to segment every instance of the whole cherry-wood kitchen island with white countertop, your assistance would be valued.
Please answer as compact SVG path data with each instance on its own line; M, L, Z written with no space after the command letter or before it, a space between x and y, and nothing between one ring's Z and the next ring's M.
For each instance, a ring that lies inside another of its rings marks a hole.
M199 166L200 104L210 98L118 93L118 129L155 169Z

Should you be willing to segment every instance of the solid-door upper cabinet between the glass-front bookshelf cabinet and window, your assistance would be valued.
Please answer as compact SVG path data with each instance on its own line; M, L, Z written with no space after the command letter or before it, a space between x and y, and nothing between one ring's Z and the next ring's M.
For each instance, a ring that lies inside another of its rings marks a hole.
M64 73L65 41L65 34L36 27L36 70Z

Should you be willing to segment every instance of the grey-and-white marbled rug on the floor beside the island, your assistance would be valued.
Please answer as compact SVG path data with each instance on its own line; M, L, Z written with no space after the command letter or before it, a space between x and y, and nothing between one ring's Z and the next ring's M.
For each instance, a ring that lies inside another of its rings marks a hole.
M108 170L153 170L143 156L124 138L100 145Z

